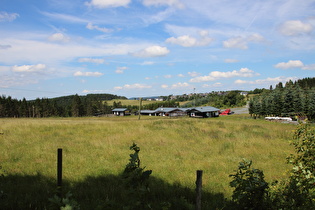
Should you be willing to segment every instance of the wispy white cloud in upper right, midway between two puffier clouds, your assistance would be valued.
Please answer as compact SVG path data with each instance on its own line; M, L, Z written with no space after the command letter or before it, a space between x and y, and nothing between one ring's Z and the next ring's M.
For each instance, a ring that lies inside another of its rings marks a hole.
M226 41L223 41L223 46L225 48L238 48L242 50L247 50L248 49L248 43L250 42L264 42L265 38L261 36L260 34L252 34L250 36L246 37L233 37L231 39L228 39Z

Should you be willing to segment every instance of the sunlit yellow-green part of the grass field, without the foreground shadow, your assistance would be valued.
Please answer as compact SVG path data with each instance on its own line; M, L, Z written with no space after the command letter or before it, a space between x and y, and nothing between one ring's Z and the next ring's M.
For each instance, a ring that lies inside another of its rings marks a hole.
M141 147L142 166L170 185L194 189L203 170L205 192L229 197L229 174L242 158L253 160L266 180L286 177L286 157L294 125L248 119L245 115L209 119L142 116L113 118L0 119L0 165L7 175L56 177L56 154L63 148L64 179L117 176L129 159L129 146Z

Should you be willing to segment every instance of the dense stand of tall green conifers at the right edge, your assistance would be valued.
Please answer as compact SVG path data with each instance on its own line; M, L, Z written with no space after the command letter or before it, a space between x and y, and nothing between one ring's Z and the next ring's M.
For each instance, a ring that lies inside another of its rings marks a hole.
M315 78L280 82L273 89L264 89L249 101L249 113L254 117L306 116L315 120Z

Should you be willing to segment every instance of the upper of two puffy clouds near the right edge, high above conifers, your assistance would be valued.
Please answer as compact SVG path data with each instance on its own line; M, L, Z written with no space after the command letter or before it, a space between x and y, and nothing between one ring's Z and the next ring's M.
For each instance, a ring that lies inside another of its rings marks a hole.
M303 23L300 20L290 20L283 23L279 31L285 36L298 36L302 34L311 33L313 26L309 23Z

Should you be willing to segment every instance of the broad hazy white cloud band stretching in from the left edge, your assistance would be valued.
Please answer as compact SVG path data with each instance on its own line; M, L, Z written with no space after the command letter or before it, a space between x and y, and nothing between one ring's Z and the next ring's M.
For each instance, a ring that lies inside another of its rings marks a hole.
M24 36L20 34L19 36ZM50 66L77 60L85 57L105 57L111 55L127 55L129 52L143 48L145 44L141 43L104 43L88 42L69 42L67 44L58 44L56 42L37 41L36 34L28 35L31 38L5 38L2 43L12 46L6 53L0 56L0 63L5 65L16 65L19 63L45 63ZM45 37L46 35L40 35ZM26 36L24 36L26 37ZM35 47L36 46L36 47ZM27 53L25 50L27 49Z

